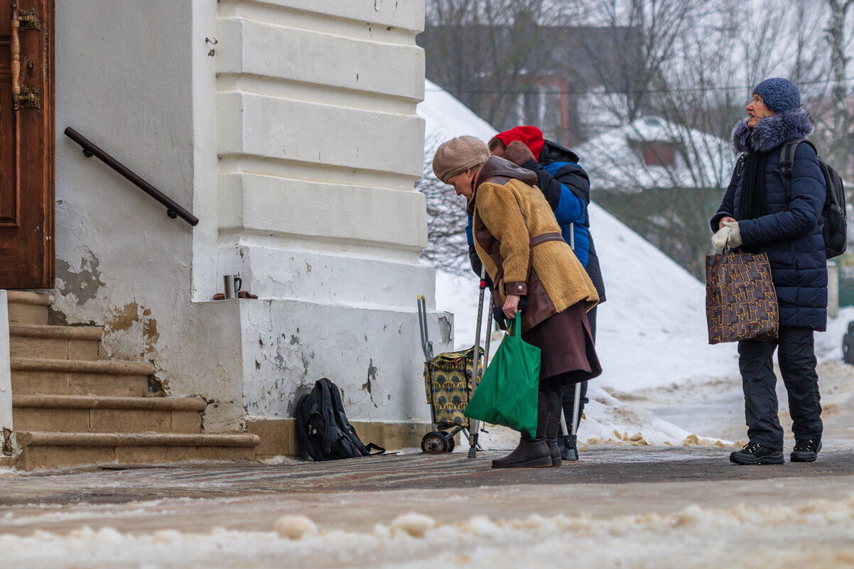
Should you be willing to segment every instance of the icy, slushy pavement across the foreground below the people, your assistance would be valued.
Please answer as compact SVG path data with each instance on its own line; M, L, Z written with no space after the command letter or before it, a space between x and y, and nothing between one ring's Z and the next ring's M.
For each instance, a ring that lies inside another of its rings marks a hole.
M854 453L739 467L727 452L600 447L524 471L406 455L6 474L0 548L4 567L52 569L854 566ZM758 557L733 555L747 549Z

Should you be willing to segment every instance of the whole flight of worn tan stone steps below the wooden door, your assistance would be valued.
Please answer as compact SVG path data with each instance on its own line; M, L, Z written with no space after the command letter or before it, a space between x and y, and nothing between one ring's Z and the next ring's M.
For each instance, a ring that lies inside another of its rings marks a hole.
M49 326L50 295L7 296L17 467L254 460L257 435L203 432L202 397L151 396L152 363L100 360L101 328Z

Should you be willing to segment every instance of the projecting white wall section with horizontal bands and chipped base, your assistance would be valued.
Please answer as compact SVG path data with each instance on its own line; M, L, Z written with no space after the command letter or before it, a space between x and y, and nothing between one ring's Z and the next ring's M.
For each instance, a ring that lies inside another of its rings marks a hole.
M423 19L420 2L219 3L219 267L269 299L240 302L249 415L290 416L329 377L354 420L429 418Z

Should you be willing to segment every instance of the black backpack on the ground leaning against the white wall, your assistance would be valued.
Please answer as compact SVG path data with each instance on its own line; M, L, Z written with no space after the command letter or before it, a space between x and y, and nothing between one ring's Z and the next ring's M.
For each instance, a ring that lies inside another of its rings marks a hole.
M341 391L329 379L319 379L311 393L296 403L296 436L314 460L338 460L382 455L385 449L374 443L362 444L344 414Z

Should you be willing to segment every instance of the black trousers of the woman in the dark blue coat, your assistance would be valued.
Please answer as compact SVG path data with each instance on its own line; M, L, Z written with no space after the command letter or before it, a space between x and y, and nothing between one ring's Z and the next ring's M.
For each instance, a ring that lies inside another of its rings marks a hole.
M739 342L747 437L763 447L782 450L783 429L777 417L779 409L775 391L775 349L788 392L795 440L822 438L822 403L810 328L781 327L776 340Z

